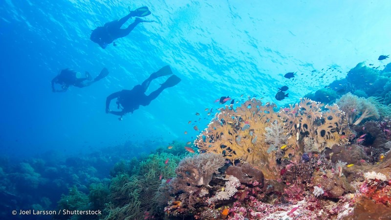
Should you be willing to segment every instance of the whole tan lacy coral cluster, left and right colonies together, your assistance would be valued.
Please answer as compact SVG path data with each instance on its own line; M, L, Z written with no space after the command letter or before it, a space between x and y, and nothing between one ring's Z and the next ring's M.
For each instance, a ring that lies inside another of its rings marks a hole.
M222 154L230 161L247 162L267 179L279 179L283 158L298 162L303 141L322 152L333 144L348 142L350 130L344 112L336 105L322 105L309 99L275 112L275 104L249 99L233 110L219 109L215 118L195 140L200 152Z

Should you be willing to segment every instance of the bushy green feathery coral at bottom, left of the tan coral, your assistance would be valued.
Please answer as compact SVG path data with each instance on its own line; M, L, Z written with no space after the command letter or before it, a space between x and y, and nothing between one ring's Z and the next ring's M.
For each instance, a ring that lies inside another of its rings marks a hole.
M164 178L175 176L175 167L180 159L173 154L151 154L139 164L137 175L120 173L114 177L108 203L105 204L104 220L144 219L146 212L149 216L161 213L156 199L161 193L159 186L165 181Z

